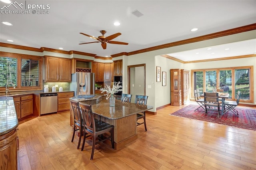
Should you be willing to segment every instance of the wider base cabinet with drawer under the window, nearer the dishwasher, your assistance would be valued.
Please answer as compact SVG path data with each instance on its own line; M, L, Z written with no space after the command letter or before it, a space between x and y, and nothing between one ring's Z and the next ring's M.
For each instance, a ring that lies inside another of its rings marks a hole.
M33 114L33 95L20 97L20 114L21 118Z

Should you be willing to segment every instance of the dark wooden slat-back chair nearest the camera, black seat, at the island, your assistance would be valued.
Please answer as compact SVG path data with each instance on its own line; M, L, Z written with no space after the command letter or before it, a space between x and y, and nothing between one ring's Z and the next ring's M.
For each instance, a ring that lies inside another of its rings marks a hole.
M104 121L98 121L97 123L95 123L94 114L92 112L92 105L86 105L85 103L79 103L79 105L82 110L82 115L84 119L84 140L81 150L84 150L86 138L88 136L92 136L92 153L90 158L90 160L92 160L94 156L95 145L99 142L110 139L112 148L114 148L114 125L110 125ZM107 132L110 132L110 135L108 135ZM96 139L98 139L97 142Z

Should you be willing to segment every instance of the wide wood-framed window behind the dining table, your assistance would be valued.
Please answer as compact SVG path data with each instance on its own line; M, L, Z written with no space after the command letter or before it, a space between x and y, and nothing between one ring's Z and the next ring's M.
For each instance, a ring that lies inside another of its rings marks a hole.
M194 86L192 89L199 89L200 94L204 91L223 89L224 93L229 93L232 100L236 100L238 91L241 91L240 100L253 103L252 70L253 66L191 70L191 81Z

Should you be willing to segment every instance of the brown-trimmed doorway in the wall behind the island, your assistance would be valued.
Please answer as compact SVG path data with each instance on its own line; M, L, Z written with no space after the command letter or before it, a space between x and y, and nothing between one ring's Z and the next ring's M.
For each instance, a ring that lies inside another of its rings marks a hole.
M128 65L128 94L146 95L146 64Z

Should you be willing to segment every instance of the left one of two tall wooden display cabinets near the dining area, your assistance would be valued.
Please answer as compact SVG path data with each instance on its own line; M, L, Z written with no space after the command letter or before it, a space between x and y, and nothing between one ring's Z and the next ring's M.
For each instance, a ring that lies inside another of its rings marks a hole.
M171 105L182 105L182 77L181 69L170 69Z

